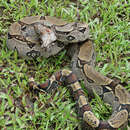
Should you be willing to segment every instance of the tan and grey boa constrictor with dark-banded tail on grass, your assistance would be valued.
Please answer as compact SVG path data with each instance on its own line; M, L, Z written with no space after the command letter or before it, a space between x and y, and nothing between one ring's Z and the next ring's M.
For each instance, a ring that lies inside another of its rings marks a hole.
M95 129L121 128L130 118L130 94L123 86L94 69L94 46L89 40L87 24L68 23L49 16L32 16L13 23L9 28L7 47L16 49L23 57L49 57L65 46L69 46L72 69L56 72L43 84L36 84L30 79L30 87L50 92L66 84L72 89L82 118L89 126ZM95 91L112 105L113 114L110 119L101 121L94 115L80 86L80 79L84 80L90 95Z

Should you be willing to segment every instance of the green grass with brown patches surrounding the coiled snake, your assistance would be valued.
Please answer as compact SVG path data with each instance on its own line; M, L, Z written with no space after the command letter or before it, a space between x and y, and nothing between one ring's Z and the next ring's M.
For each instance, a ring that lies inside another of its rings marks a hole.
M89 24L90 37L95 43L96 69L129 84L128 4L126 0L80 0L79 14L80 21ZM27 87L30 76L41 83L69 64L66 51L52 58L26 61L6 47L6 34L12 22L31 15L76 21L76 7L70 0L0 0L0 66L4 68L0 72L0 129L81 129L75 103L66 88L59 87L53 94L34 94ZM130 90L129 85L125 87ZM106 119L108 110L100 105L102 101L96 96L93 103L95 114Z

